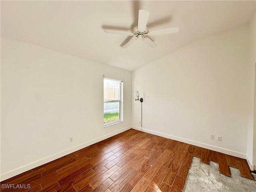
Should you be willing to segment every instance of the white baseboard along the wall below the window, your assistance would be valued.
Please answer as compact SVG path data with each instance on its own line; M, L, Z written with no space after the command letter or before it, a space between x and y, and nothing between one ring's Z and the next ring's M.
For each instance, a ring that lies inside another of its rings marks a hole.
M46 163L51 162L51 161L53 161L53 160L56 160L56 159L58 159L58 158L61 158L61 157L65 156L65 155L68 155L68 154L70 154L70 153L72 153L72 152L75 152L75 151L77 151L77 150L80 150L80 149L82 149L82 148L85 148L85 147L87 147L87 146L90 146L90 145L92 145L92 144L94 144L94 143L97 143L97 142L99 142L99 141L102 141L102 140L104 140L104 139L110 138L110 137L112 137L112 136L114 136L114 135L117 135L117 134L119 134L119 133L122 133L122 132L124 132L124 131L126 131L126 130L129 130L129 129L131 129L131 128L132 128L132 126L129 126L129 127L126 127L126 128L120 129L120 130L117 130L117 131L112 132L112 133L110 133L110 134L104 135L104 136L102 136L102 137L99 137L99 138L96 138L96 139L94 139L94 140L91 140L91 141L85 142L85 143L83 143L83 144L80 144L80 145L78 145L78 146L75 146L75 147L73 147L73 148L69 148L69 149L64 150L64 151L62 151L62 152L58 152L58 153L53 154L53 155L51 155L51 156L48 156L48 157L45 157L45 158L36 160L36 161L31 162L31 163L29 163L29 164L26 164L26 165L24 165L24 166L20 166L20 167L18 167L18 168L16 168L16 169L13 169L13 170L10 170L10 171L8 171L8 172L5 172L5 173L3 173L3 174L1 175L0 181L6 180L6 179L11 178L11 177L13 177L13 176L16 176L16 175L18 175L18 174L21 174L21 173L23 173L23 172L26 172L26 171L31 170L31 169L33 169L33 168L36 168L36 167L38 167L38 166L40 166L40 165L43 165L43 164L46 164Z

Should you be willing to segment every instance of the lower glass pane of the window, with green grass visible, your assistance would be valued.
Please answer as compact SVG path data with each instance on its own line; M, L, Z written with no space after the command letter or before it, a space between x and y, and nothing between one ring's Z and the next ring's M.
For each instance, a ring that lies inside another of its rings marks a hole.
M104 123L119 120L120 102L104 103Z

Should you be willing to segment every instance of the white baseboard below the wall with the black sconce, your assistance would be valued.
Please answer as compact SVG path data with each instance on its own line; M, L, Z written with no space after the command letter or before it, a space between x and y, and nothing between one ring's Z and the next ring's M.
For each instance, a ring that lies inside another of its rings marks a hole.
M161 133L161 132L157 132L157 131L152 131L152 130L148 130L148 129L144 129L144 128L141 129L140 127L136 127L136 126L132 126L132 128L136 129L136 130L139 130L139 131L142 131L142 132L146 132L146 133L154 134L154 135L157 135L157 136L165 137L165 138L168 138L168 139L184 142L184 143L187 143L187 144L191 144L191 145L194 145L194 146L206 148L206 149L213 150L213 151L216 151L216 152L221 152L221 153L232 155L232 156L239 157L239 158L242 158L242 159L247 158L246 154L240 153L240 152L237 152L237 151L233 151L233 150L229 150L229 149L225 149L225 148L221 148L221 147L216 147L216 146L213 146L213 145L209 145L209 144L205 144L205 143L201 143L201 142L197 142L197 141L193 141L193 140L188 140L188 139L184 139L184 138L180 138L180 137L176 137L176 136L173 136L173 135L169 135L169 134L165 134L165 133Z

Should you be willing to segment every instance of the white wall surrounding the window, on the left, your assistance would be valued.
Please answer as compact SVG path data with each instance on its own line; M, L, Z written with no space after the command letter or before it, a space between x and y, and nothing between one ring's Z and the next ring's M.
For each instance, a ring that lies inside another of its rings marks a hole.
M126 78L124 121L106 128L103 74ZM1 180L129 129L131 91L131 72L1 37Z

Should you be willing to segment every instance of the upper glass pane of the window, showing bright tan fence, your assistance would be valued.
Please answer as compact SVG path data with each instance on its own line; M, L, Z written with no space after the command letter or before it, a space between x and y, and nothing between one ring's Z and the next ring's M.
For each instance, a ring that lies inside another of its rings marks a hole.
M104 79L104 100L120 100L120 82Z

